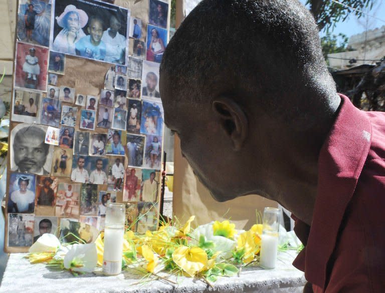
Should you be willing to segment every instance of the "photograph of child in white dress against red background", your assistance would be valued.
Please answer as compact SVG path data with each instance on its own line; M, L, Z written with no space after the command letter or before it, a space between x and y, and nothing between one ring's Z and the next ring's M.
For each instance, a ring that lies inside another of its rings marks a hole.
M15 86L44 91L47 88L48 48L17 43Z

